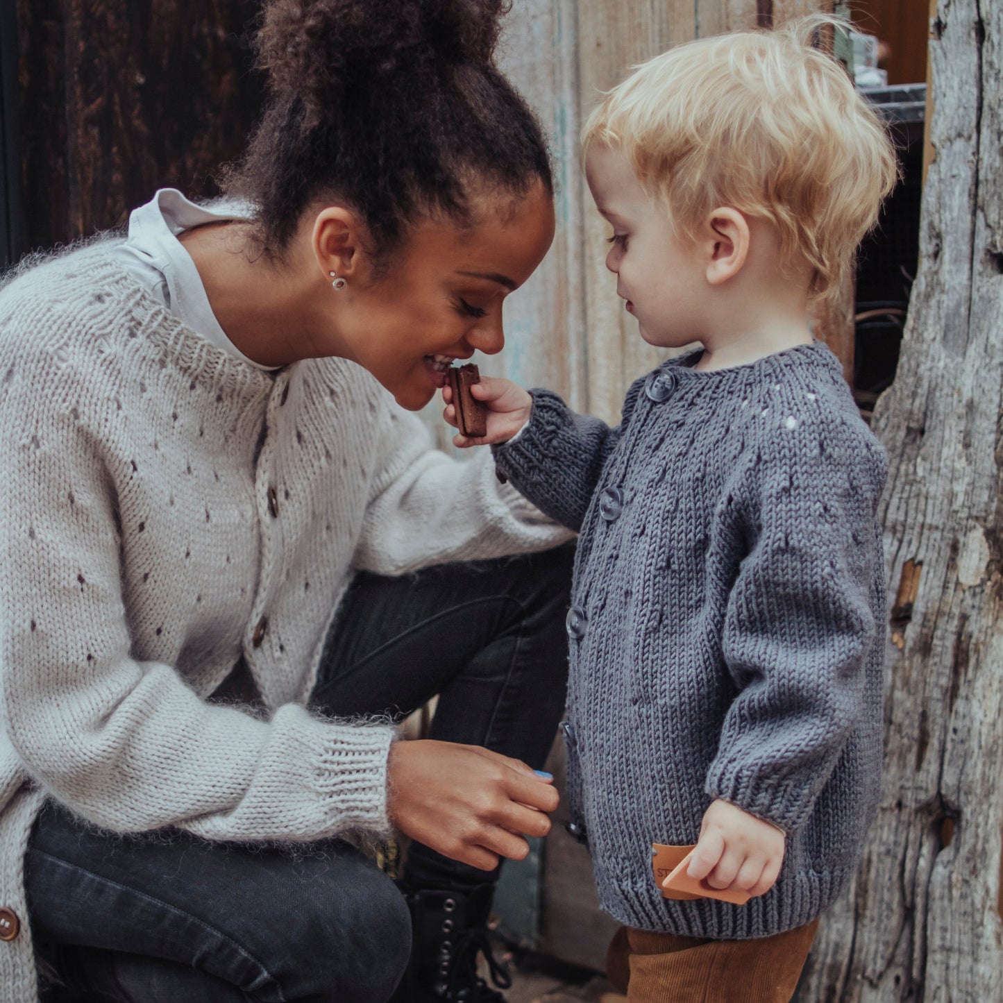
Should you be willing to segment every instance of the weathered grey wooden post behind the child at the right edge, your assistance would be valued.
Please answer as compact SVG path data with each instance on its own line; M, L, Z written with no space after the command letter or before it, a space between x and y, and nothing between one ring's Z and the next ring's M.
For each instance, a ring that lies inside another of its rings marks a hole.
M891 460L886 772L801 1001L1003 1000L1003 4L940 0Z

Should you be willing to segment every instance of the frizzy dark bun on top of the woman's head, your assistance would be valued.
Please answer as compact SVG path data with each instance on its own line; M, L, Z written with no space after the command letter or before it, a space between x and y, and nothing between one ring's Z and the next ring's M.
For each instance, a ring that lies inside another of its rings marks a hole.
M486 64L509 0L266 0L259 65L299 96L308 123L322 102L380 83L406 85L434 67Z

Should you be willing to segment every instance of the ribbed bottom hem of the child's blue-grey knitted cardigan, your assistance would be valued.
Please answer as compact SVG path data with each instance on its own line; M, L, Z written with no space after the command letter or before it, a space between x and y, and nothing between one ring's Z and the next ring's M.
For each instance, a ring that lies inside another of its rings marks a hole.
M772 937L816 919L854 876L852 870L805 871L783 876L765 895L734 906L716 899L663 899L654 880L617 884L597 874L603 909L636 930L710 940Z

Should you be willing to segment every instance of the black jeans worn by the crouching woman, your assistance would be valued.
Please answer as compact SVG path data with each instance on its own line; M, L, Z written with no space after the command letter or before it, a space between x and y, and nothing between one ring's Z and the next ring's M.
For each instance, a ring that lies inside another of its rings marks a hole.
M360 575L331 631L312 703L400 717L434 694L431 737L543 764L564 705L571 549ZM494 877L413 846L415 887ZM25 868L45 967L113 1003L380 1003L410 951L392 882L338 840L209 843L121 837L49 804Z

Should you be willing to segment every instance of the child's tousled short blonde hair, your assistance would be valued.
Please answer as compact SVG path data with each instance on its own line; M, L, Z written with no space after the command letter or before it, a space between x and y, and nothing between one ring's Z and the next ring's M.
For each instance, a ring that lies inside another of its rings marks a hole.
M682 236L731 206L776 228L781 265L806 261L834 298L898 177L881 118L811 47L831 18L703 38L635 68L582 131L619 148Z

